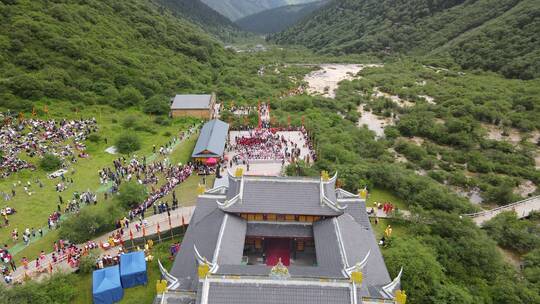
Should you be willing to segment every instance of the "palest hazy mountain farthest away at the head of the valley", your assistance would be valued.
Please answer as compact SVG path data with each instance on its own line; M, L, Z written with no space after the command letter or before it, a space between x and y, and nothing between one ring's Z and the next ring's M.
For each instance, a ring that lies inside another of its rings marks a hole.
M208 6L231 20L280 6L303 4L318 0L202 0Z

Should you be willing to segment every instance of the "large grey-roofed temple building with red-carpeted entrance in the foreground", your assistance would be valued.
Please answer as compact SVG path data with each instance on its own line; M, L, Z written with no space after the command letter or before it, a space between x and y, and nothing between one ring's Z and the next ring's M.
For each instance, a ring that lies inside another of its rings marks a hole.
M329 178L228 174L200 195L163 303L404 303L365 200Z

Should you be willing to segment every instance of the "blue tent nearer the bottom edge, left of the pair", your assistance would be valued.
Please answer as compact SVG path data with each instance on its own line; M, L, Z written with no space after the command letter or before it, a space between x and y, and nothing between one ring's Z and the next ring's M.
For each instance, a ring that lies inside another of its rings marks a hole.
M96 270L92 277L94 304L112 304L124 297L118 266Z

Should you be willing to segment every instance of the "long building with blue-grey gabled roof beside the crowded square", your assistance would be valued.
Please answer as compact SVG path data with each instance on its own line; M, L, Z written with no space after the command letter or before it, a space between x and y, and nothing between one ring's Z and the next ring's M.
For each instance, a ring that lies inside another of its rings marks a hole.
M203 160L205 158L221 158L227 142L229 124L213 119L205 123L193 149L191 157Z

